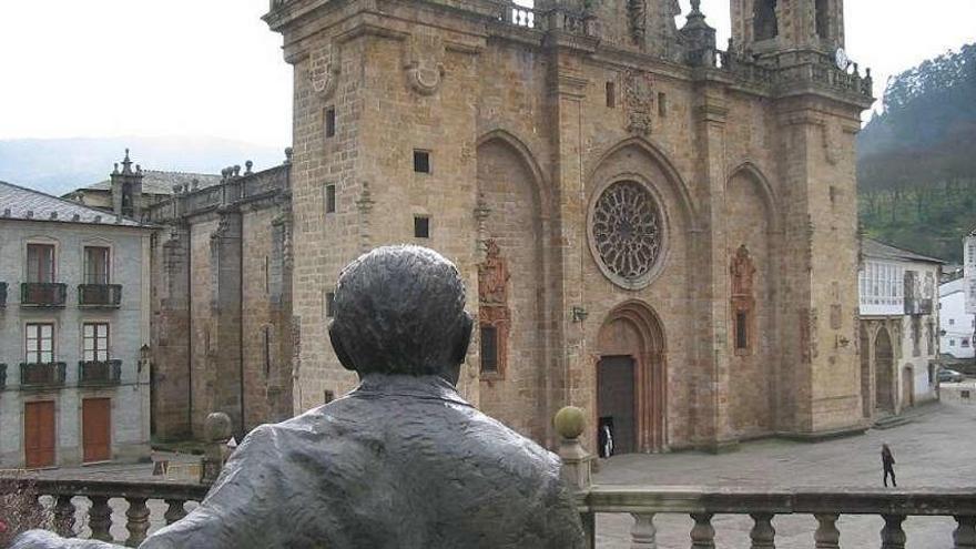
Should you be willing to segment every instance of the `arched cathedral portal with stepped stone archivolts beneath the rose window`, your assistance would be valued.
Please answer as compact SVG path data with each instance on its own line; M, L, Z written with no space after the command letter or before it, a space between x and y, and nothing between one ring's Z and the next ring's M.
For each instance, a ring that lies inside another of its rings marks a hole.
M614 454L667 447L664 332L640 302L614 308L600 328L597 360L597 440L612 425Z

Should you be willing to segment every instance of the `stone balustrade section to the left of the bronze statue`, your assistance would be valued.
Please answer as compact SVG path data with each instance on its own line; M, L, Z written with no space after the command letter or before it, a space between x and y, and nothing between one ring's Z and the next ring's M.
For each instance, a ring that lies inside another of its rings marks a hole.
M31 478L12 479L4 486L20 487L22 491L35 495L37 505L50 511L53 530L61 536L81 537L81 526L87 525L92 539L124 541L129 547L135 547L146 538L151 506L165 509L159 519L171 525L186 516L184 506L187 501L200 502L209 489L209 486L195 484ZM75 505L78 498L88 501ZM124 527L129 535L122 540L114 539L111 533L113 526L121 526L113 525L112 510L118 506L112 500L128 502Z

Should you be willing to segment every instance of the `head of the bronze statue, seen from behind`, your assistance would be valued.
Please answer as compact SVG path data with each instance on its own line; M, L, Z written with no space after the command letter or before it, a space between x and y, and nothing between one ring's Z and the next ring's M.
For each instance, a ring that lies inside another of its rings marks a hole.
M436 375L456 384L471 327L451 262L426 247L384 246L343 270L328 335L360 378Z

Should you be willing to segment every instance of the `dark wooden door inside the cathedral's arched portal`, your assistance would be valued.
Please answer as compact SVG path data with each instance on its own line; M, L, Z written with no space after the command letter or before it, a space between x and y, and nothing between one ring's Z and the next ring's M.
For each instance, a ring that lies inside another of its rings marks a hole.
M610 427L613 454L636 451L633 358L610 356L600 359L597 386L598 428Z

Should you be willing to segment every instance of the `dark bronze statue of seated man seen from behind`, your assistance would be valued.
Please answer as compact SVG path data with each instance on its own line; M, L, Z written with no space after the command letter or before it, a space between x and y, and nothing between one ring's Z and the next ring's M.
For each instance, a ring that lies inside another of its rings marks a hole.
M430 250L349 264L328 333L359 386L254 429L200 507L140 547L581 549L559 458L455 390L464 306L457 268ZM37 530L13 545L64 547L114 546Z

